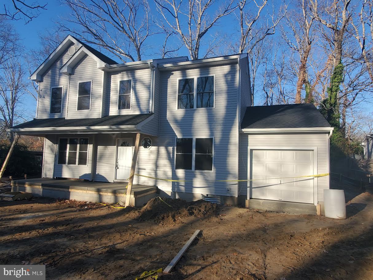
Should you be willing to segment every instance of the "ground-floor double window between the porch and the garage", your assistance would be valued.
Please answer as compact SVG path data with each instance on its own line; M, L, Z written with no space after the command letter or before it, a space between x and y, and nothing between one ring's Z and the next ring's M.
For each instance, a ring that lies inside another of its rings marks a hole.
M176 138L175 169L213 170L213 138Z

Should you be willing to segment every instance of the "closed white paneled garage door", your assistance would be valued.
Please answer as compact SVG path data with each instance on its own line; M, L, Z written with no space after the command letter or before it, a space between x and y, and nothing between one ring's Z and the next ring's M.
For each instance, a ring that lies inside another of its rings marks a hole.
M313 203L313 178L283 178L313 174L311 150L251 150L251 197Z

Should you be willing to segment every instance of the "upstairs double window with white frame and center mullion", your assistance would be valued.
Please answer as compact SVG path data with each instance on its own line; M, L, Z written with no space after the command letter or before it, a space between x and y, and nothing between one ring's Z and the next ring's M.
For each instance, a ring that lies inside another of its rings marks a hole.
M178 109L214 107L214 76L178 80Z

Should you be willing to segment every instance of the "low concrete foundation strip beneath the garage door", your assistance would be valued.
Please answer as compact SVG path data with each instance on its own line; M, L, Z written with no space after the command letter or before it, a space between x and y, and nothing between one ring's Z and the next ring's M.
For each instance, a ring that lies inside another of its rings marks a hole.
M273 212L286 212L291 214L314 214L316 206L307 203L286 202L265 199L246 200L246 207L251 209L268 210Z

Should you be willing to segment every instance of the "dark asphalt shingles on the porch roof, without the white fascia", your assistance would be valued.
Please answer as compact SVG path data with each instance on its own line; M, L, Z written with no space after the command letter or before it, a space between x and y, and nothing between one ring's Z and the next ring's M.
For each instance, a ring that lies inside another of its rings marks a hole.
M103 118L82 119L33 119L32 121L16 125L12 128L45 128L45 127L100 127L117 125L137 125L153 113L137 115L104 116Z

